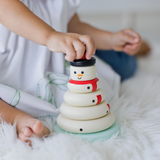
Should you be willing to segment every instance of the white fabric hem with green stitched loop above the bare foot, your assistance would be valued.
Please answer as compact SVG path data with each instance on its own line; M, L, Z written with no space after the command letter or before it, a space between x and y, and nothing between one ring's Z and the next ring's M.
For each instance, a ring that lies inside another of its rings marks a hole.
M0 84L0 99L33 117L59 114L59 108L33 95Z

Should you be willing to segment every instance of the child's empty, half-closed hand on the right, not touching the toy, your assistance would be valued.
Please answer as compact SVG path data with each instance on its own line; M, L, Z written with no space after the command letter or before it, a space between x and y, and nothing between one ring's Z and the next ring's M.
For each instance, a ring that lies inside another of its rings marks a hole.
M129 55L138 52L141 38L138 33L132 29L124 29L122 31L112 33L110 37L111 48L116 51L124 51Z

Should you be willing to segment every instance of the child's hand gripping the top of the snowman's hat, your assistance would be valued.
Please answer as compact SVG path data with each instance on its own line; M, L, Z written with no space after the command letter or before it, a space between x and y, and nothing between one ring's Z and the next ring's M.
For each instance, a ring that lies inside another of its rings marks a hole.
M65 59L68 61L81 59L85 51L86 58L90 59L95 54L96 49L90 36L56 31L48 38L47 47L53 52L65 53Z

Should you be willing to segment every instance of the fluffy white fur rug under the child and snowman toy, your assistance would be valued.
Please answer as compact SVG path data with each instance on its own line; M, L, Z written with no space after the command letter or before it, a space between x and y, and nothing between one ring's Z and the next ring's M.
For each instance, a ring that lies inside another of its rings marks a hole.
M159 160L160 159L160 50L140 59L136 76L124 82L120 98L111 106L120 136L88 143L58 134L33 146L16 138L15 127L0 125L0 160Z

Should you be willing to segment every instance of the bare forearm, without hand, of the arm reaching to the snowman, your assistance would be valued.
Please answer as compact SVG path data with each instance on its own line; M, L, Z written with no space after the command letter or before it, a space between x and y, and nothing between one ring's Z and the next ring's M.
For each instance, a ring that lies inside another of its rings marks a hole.
M0 22L12 32L41 45L46 45L54 32L19 0L0 0Z

